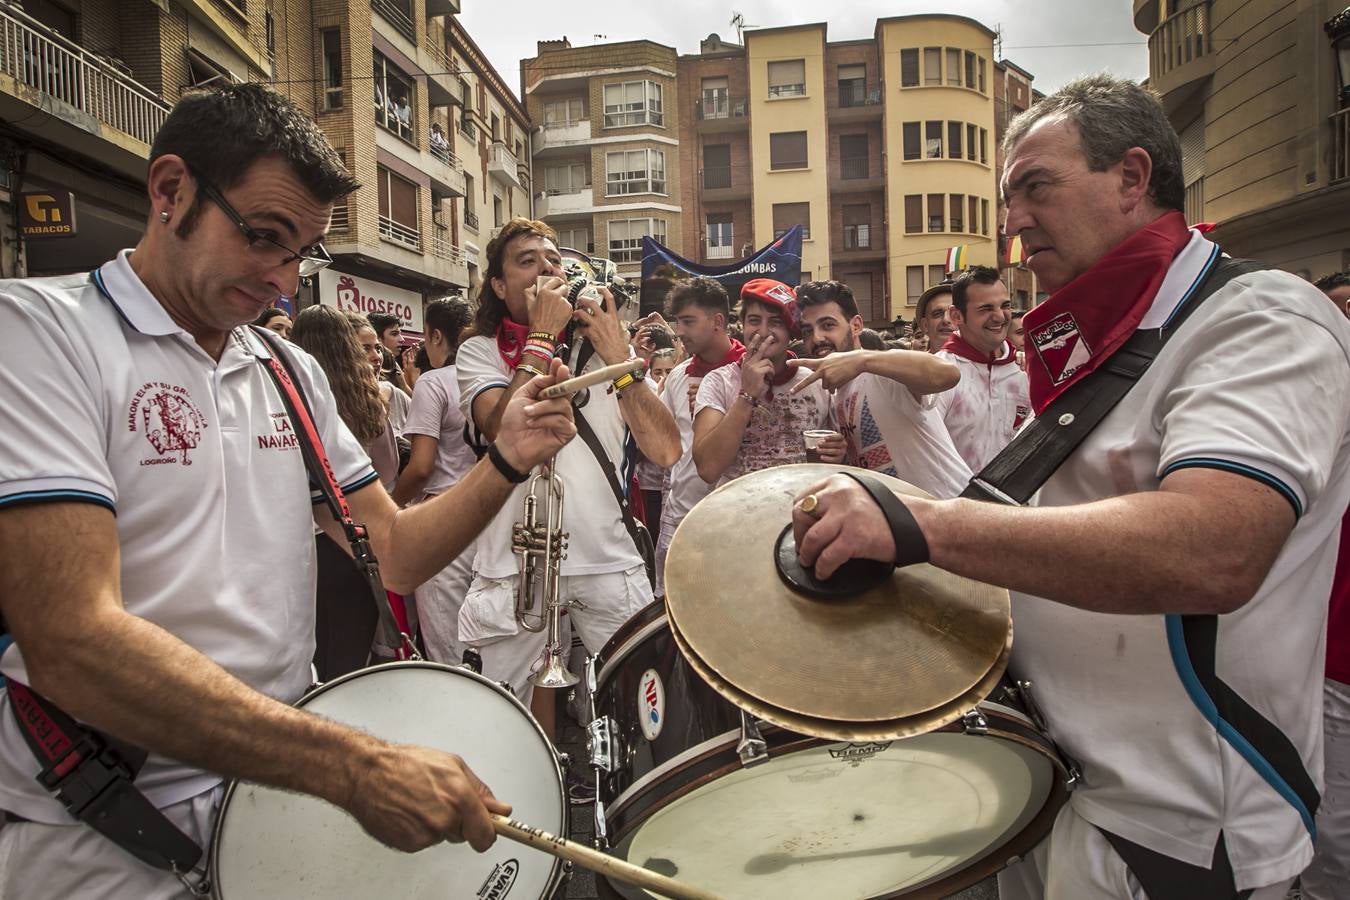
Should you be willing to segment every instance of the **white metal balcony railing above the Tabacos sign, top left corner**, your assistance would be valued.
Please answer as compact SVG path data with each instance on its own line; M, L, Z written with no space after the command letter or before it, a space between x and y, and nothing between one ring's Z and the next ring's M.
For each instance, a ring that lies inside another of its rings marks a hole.
M36 19L0 9L0 73L151 143L169 115L148 88Z

